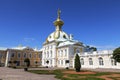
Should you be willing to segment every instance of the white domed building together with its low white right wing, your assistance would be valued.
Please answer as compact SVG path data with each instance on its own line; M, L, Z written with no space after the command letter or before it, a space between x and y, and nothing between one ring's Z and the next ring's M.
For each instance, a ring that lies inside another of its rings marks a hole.
M64 22L60 19L58 10L56 27L43 43L42 66L74 68L75 54L79 54L82 68L116 68L120 69L120 64L112 58L113 50L86 51L86 46L73 39L62 30Z

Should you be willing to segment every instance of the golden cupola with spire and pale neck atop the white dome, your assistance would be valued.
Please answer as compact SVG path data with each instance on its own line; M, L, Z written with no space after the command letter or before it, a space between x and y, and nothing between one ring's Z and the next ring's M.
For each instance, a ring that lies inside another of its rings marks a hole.
M57 17L57 20L54 22L54 25L56 26L56 31L60 31L64 24L64 22L60 19L60 13L61 11L60 9L58 9L58 12L57 12L58 17Z

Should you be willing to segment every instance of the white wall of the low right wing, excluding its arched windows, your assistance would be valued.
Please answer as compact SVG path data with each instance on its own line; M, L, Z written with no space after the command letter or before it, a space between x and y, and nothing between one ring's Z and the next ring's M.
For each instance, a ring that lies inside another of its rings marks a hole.
M99 58L103 58L103 64L99 65ZM120 63L117 63L117 65L111 64L111 57L112 52L98 52L97 54L83 54L80 55L80 58L84 59L84 65L82 65L82 68L114 68L114 69L120 69ZM89 65L89 58L92 58L93 65Z

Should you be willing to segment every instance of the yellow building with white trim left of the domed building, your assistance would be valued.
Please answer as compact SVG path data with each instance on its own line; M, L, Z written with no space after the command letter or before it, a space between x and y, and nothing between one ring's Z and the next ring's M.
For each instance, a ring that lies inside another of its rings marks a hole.
M0 50L0 65L13 66L16 61L16 66L24 66L24 60L29 58L30 66L40 66L42 53L39 50L30 47L15 47L10 49Z

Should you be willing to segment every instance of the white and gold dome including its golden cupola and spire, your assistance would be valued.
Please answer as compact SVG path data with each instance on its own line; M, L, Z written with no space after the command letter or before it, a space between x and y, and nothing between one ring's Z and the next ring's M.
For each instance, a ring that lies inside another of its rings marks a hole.
M58 12L57 12L58 17L57 17L57 20L54 21L56 30L48 36L48 38L46 39L47 43L54 41L54 40L65 41L65 40L69 39L69 36L65 32L62 31L62 26L63 26L64 22L60 19L60 13L61 13L61 11L58 9Z

